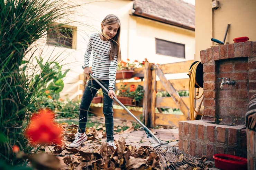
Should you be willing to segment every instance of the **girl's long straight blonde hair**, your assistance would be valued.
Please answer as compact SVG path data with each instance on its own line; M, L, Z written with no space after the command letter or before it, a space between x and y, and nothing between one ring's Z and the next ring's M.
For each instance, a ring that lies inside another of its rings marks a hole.
M117 55L117 60L121 61L121 50L120 50L120 31L121 31L121 23L119 18L114 14L108 14L101 22L104 26L118 23L119 28L117 30L117 34L110 39L111 41L111 50L109 53L109 60L113 60L115 55ZM102 32L102 29L101 29Z

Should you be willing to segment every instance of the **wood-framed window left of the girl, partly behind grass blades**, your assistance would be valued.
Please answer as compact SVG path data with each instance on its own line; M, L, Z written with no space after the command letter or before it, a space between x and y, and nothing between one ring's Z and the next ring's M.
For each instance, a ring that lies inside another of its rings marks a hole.
M76 49L76 27L52 26L47 32L47 44Z

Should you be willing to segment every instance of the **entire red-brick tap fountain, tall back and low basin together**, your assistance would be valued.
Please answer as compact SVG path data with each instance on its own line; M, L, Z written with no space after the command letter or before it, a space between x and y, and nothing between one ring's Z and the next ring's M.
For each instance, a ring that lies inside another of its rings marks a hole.
M204 72L204 120L179 122L179 149L195 156L216 153L247 157L245 114L256 93L256 42L214 46L200 51ZM235 80L224 85L221 77Z

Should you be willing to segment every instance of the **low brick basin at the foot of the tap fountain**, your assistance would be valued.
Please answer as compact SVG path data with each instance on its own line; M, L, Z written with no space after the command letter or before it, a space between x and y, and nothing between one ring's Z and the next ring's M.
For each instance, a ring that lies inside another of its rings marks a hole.
M194 157L215 153L247 157L245 125L227 126L208 120L179 121L179 149Z

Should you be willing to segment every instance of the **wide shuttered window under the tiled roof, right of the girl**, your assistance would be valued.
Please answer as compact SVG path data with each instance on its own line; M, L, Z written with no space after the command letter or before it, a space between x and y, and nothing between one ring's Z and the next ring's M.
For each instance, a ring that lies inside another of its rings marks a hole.
M156 38L156 54L168 55L185 59L185 44Z

